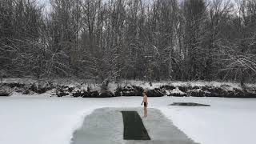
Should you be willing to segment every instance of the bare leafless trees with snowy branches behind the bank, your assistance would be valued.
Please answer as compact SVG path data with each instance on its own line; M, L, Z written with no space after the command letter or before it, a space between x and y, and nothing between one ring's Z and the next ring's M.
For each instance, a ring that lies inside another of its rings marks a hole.
M256 0L38 1L0 1L2 76L255 78Z

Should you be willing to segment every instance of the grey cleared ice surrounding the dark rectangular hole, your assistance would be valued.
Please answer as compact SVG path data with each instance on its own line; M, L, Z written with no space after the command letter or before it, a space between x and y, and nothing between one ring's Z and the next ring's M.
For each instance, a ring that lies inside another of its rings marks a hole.
M160 110L148 109L142 118L151 140L124 140L121 111L133 110L143 115L142 108L101 108L86 116L83 125L74 131L71 144L196 144L178 130Z

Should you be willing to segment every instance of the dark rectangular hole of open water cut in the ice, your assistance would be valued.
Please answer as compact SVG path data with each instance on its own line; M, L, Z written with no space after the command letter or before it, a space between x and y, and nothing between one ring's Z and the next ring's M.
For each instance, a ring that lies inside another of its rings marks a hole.
M137 111L122 111L124 124L123 138L126 140L150 140L142 118Z

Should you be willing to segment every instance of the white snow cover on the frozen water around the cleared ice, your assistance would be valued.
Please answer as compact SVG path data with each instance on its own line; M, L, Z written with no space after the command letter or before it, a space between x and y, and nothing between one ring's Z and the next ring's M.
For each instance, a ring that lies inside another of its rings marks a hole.
M0 142L4 144L69 144L82 118L101 107L138 107L140 97L0 98ZM256 143L256 99L149 98L149 107L162 110L195 142L201 144ZM198 102L210 107L168 106L172 102Z

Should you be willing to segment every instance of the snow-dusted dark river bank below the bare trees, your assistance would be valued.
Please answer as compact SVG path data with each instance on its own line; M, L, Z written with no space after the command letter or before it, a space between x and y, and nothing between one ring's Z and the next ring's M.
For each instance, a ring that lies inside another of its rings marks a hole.
M194 97L226 97L226 98L256 98L256 85L246 84L241 87L232 82L142 82L122 81L108 83L102 92L102 85L91 80L44 80L40 82L26 79L6 78L0 84L0 96L12 92L22 94L42 94L50 91L58 97L70 95L82 98L106 98L114 96L141 96L147 90L149 97L194 96ZM33 82L33 83L31 83Z

